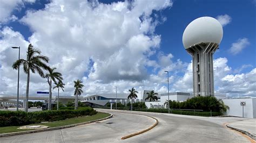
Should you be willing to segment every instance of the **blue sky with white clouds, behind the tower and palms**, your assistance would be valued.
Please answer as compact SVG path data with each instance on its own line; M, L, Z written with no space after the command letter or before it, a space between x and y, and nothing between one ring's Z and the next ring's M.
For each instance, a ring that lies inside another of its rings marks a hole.
M228 97L256 97L255 0L0 0L0 94L16 94L17 70L31 43L63 74L65 92L82 80L85 95L136 90L193 92L192 57L183 32L192 20L210 16L223 26L214 53L214 89ZM45 71L45 73L47 73ZM48 91L31 74L30 95ZM20 94L26 91L21 68ZM53 90L53 96L57 90Z

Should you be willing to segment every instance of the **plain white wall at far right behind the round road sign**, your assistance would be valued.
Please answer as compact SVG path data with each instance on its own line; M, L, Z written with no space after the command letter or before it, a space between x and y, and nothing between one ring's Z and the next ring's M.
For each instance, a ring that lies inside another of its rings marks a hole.
M244 117L256 118L256 98L234 98L234 99L222 99L225 105L230 107L230 110L226 112L228 116L242 117L242 106L240 102L246 102L244 106Z

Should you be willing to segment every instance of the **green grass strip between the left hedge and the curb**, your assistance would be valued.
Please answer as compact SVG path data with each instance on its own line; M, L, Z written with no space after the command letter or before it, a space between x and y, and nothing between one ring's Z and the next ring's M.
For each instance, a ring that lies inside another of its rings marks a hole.
M101 118L105 118L110 116L109 113L103 113L98 112L96 115L92 116L83 116L83 117L77 117L77 118L70 118L65 120L59 120L59 121L53 121L49 123L40 123L36 125L45 125L49 127L58 127L58 126L65 126L65 125L71 125L71 124L77 124L82 123L85 121L91 121L91 120L97 120ZM7 127L0 127L0 133L11 133L11 132L21 132L21 131L28 131L31 129L17 129L20 126L7 126Z

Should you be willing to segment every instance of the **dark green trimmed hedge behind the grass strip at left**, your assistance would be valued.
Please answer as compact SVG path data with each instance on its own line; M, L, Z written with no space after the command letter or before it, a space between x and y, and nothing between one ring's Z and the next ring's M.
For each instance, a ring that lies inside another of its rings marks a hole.
M0 127L20 126L41 123L41 121L57 121L79 116L92 116L97 111L90 107L78 110L50 110L50 111L0 111Z

